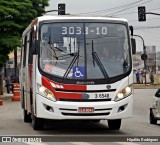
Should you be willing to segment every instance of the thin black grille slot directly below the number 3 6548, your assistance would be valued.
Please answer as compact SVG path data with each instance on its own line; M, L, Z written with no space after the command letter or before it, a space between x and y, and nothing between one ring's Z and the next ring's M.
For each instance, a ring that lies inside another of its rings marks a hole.
M111 98L109 98L109 99L88 99L88 100L60 98L59 101L68 101L68 102L104 102L104 101L111 101Z

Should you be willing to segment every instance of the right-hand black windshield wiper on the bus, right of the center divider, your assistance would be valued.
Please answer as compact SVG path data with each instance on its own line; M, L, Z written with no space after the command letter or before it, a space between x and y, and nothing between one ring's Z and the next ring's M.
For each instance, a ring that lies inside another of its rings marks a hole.
M94 67L95 67L95 61L96 61L97 65L99 66L99 68L100 68L102 74L104 75L105 79L107 81L110 81L109 76L108 76L108 74L107 74L107 72L106 72L101 60L98 57L98 54L94 51L93 40L92 40L92 58L93 58Z

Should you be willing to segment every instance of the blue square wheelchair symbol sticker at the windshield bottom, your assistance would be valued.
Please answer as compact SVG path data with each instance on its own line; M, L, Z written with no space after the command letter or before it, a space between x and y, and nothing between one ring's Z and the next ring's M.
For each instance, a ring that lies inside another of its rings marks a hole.
M73 78L83 79L84 78L84 66L73 67Z

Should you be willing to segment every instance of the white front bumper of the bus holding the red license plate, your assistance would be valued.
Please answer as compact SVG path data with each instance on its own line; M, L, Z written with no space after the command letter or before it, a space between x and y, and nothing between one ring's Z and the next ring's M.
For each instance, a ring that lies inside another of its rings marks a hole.
M118 102L53 102L39 94L36 97L35 115L38 118L54 120L108 120L123 119L132 116L132 95ZM87 108L89 110L87 112L79 112L79 108L84 108L84 111L87 111Z

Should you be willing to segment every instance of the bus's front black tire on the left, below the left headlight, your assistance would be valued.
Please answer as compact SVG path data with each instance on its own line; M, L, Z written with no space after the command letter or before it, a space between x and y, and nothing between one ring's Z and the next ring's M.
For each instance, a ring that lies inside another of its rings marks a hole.
M37 118L33 115L32 117L32 127L34 130L42 130L44 126L44 120L42 118Z

